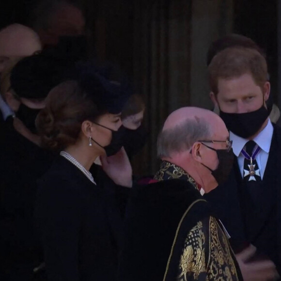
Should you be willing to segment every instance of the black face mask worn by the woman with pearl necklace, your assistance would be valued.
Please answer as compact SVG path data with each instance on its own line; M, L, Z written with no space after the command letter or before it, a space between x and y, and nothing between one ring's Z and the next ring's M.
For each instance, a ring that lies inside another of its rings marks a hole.
M98 123L95 123L95 124L111 131L111 141L110 141L109 145L102 146L97 141L95 141L93 138L91 138L91 139L97 145L99 145L100 147L102 147L105 150L107 156L115 155L122 148L122 146L124 144L123 138L124 138L124 134L125 134L125 127L120 126L120 128L117 131L114 131L114 130L112 130L106 126L100 125Z

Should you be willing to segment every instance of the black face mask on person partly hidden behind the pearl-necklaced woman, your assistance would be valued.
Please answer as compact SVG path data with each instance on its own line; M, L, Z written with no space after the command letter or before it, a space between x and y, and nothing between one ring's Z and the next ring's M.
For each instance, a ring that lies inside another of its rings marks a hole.
M139 126L136 130L125 129L124 134L124 148L128 156L134 156L145 145L147 138L147 131L144 126Z

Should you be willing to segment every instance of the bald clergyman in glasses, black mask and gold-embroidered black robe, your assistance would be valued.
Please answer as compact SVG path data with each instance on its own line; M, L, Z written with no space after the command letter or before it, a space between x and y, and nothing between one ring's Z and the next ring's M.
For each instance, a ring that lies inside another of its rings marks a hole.
M186 107L168 117L157 141L160 169L128 203L119 281L242 280L227 232L200 194L227 179L231 147L209 110Z

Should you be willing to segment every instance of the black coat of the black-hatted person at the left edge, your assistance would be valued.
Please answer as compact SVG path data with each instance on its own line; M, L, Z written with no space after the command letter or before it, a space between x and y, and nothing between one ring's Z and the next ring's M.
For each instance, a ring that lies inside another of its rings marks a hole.
M0 280L31 280L42 258L33 225L36 181L53 155L20 135L12 117L0 133Z

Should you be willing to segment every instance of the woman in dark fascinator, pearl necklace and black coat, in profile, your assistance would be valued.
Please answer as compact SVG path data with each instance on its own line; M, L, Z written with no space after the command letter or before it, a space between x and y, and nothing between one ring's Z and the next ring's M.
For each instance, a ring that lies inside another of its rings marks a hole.
M132 186L125 150L114 145L127 95L88 67L54 88L37 117L43 145L60 151L39 182L35 211L50 281L116 279L118 203ZM93 167L98 156L107 174Z

